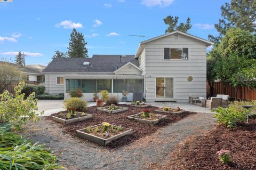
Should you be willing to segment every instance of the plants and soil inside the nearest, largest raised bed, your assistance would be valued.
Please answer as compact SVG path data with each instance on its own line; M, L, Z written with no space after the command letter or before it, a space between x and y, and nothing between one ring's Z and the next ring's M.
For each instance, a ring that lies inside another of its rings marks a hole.
M115 136L124 131L125 131L125 129L123 127L110 125L107 122L103 122L102 124L100 124L98 126L85 128L85 133L93 134L95 136L102 137L105 139L107 139L111 136Z

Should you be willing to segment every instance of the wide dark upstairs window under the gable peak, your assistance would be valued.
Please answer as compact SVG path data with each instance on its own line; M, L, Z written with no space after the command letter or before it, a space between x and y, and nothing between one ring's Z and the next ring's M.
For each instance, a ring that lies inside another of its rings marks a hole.
M164 48L165 60L188 60L188 48Z

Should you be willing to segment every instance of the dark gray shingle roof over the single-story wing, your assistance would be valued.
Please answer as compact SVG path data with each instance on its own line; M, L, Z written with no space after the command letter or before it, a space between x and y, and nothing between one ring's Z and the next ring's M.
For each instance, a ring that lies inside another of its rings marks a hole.
M135 55L93 55L92 58L54 58L43 72L114 72L116 66L121 68L127 62L139 66ZM83 66L84 62L90 62L90 66Z

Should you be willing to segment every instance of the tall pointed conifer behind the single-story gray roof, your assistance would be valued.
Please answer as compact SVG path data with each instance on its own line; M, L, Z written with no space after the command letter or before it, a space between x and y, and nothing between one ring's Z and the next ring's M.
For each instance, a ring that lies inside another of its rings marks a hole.
M85 47L87 42L84 40L84 35L79 33L74 28L72 33L70 34L69 39L69 47L68 47L68 56L71 58L84 58L88 57L88 50Z

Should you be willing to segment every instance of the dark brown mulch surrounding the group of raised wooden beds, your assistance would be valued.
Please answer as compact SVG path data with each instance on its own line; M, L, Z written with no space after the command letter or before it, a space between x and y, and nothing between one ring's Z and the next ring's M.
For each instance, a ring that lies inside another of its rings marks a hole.
M63 132L68 133L73 137L76 136L75 133L76 133L77 129L82 129L85 127L101 124L102 122L108 122L113 125L118 125L118 126L121 125L122 127L133 129L133 134L121 137L121 138L111 142L108 145L110 148L116 148L121 145L131 143L137 139L140 139L141 137L149 136L149 135L153 134L154 132L156 132L157 129L159 129L161 127L164 127L171 123L178 122L179 120L181 120L189 115L196 114L195 112L188 112L188 111L183 112L179 116L174 116L174 115L163 113L163 115L166 115L167 118L162 120L158 124L152 126L149 124L142 124L139 122L134 122L127 118L127 116L138 114L139 112L141 112L142 111L141 108L128 106L126 104L117 104L117 106L128 107L129 110L123 111L119 114L112 115L112 114L106 114L105 112L97 110L96 109L97 107L95 107L95 106L88 107L87 110L85 111L85 113L93 115L92 119L88 119L86 121L77 122L77 123L68 124L68 125L61 125L60 128ZM154 110L157 109L157 107L150 107L148 109L150 110L150 112L154 112ZM53 116L58 115L58 114L59 113L53 114ZM52 119L52 116L47 117L47 119Z

